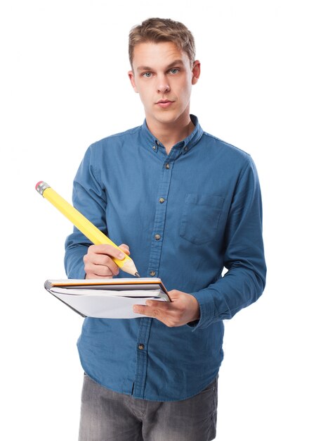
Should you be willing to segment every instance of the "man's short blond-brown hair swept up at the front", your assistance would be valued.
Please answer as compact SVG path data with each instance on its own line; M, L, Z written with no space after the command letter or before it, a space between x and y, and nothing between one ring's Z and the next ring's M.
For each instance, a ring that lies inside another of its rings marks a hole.
M136 25L129 34L129 60L132 66L134 48L139 43L173 42L184 51L192 66L195 61L195 39L183 23L170 18L147 18Z

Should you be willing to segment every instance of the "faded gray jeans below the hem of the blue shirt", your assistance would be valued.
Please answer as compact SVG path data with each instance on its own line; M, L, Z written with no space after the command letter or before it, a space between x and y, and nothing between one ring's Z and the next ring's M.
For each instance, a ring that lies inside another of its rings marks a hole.
M79 441L211 441L218 378L195 397L153 402L107 390L84 375Z

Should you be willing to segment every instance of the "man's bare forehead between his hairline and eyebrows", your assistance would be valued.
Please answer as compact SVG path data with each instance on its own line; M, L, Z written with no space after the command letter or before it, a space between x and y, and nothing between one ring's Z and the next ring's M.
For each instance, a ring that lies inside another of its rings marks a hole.
M133 50L133 68L169 66L176 60L190 66L188 55L173 42L138 43Z

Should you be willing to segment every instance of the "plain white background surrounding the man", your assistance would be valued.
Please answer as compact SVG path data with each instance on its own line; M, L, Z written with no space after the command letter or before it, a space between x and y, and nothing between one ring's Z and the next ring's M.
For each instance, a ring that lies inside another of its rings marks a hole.
M46 180L71 200L88 145L143 123L127 37L151 16L192 30L202 76L191 111L251 154L263 191L268 285L226 323L216 440L307 440L309 36L300 0L1 2L3 439L77 440L82 318L43 287L65 277L72 227L34 186Z

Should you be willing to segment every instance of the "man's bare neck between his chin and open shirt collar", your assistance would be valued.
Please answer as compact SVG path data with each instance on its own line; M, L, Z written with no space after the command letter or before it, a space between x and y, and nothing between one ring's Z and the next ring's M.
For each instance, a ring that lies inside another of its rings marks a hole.
M150 132L152 132L152 135L164 145L166 154L169 154L175 144L188 137L195 129L195 125L192 123L190 116L184 121L176 120L169 124L148 123L147 118L146 121L147 127Z

